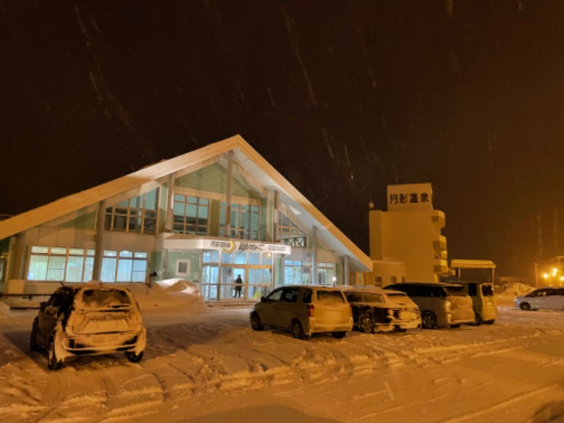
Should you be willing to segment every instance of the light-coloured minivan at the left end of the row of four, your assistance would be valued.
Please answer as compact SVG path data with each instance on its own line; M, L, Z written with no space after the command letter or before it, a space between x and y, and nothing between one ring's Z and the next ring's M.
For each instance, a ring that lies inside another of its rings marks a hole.
M285 329L294 338L331 333L343 338L353 329L353 313L345 295L328 286L283 286L262 297L251 309L252 329L264 326Z

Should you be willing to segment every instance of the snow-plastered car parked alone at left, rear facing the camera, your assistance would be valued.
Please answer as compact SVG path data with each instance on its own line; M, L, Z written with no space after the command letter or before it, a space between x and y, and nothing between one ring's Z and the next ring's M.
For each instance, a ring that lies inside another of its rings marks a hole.
M47 351L51 370L76 355L125 353L130 362L140 362L146 342L133 294L102 283L58 288L41 303L30 336L33 351Z

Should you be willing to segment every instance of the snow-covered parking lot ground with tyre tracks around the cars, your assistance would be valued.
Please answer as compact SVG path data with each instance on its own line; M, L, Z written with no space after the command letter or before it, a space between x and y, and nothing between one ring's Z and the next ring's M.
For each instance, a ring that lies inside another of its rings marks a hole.
M299 341L181 283L136 293L147 350L47 370L36 310L0 311L0 422L564 422L564 312ZM183 298L184 295L184 298ZM169 301L169 300L172 301Z

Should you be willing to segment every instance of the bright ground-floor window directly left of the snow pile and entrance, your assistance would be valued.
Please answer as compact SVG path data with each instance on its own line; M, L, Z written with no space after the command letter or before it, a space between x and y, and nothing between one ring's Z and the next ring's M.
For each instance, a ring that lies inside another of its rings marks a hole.
M104 251L102 282L145 282L147 253L134 251Z

